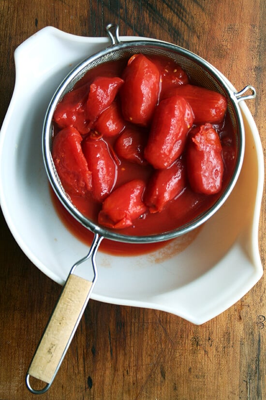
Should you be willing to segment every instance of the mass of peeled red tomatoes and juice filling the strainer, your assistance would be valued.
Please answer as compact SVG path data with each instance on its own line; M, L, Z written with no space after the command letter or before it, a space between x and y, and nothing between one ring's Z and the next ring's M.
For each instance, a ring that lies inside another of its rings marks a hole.
M232 176L236 141L226 108L222 95L192 85L165 57L136 54L99 65L54 114L52 154L61 183L82 214L116 232L177 229L210 208ZM198 139L201 132L208 135ZM87 229L56 208L75 235L87 238ZM139 252L163 245L140 245Z

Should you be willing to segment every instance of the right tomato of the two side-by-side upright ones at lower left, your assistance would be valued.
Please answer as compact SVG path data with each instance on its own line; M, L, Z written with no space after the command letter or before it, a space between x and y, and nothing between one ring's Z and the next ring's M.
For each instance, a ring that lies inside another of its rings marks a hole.
M103 139L87 137L82 149L92 174L92 195L95 200L102 202L116 183L116 163Z

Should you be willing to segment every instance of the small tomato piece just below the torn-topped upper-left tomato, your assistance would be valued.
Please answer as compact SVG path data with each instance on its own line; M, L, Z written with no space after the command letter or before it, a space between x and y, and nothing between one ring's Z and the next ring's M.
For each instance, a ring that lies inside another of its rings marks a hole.
M103 136L116 136L125 128L118 103L113 103L97 118L94 129Z

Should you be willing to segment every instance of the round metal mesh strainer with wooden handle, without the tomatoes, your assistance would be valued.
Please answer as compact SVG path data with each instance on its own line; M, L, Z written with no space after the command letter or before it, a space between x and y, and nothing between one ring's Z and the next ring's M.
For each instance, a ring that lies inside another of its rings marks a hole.
M44 330L42 339L33 356L30 368L26 375L28 389L35 394L41 394L48 390L52 384L65 353L71 343L76 327L82 317L84 309L89 301L90 293L97 280L97 267L95 262L98 247L103 238L130 243L148 243L163 241L183 235L210 218L225 202L240 173L244 156L244 125L238 106L239 101L254 98L255 89L248 85L240 92L235 93L224 80L223 76L211 64L192 52L176 45L154 40L136 40L121 42L118 36L118 26L109 24L106 32L111 39L111 46L103 49L95 55L77 65L74 70L63 80L53 96L47 110L43 130L43 155L46 172L53 190L59 197L63 206L81 224L94 233L94 240L87 256L79 260L72 267L64 288L59 297L53 314ZM113 33L114 32L114 33ZM52 159L53 139L53 114L59 101L71 91L75 84L84 75L100 64L110 61L130 58L133 54L142 53L147 56L166 56L179 64L189 75L193 83L207 89L221 93L228 101L228 114L236 139L236 165L231 179L216 203L193 221L184 224L177 229L161 232L149 236L129 236L120 232L109 230L86 218L74 207L68 195L65 193ZM247 92L251 94L246 95ZM93 279L91 281L81 278L76 274L77 267L84 261L91 260ZM33 389L30 385L30 376L45 383L42 389Z

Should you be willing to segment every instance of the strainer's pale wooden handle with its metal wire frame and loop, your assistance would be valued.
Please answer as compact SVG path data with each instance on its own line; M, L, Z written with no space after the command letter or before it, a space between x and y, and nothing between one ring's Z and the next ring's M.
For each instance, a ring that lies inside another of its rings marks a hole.
M88 255L74 264L68 275L26 375L26 385L31 393L45 393L59 370L97 280L95 256L102 239L95 234ZM74 274L77 266L89 258L94 272L92 281ZM45 387L33 389L30 376L46 383Z

